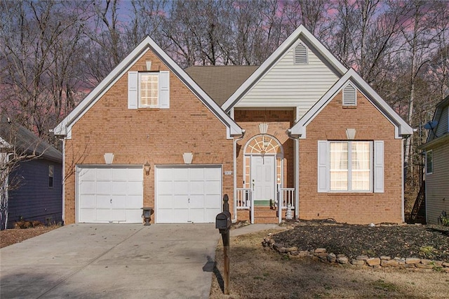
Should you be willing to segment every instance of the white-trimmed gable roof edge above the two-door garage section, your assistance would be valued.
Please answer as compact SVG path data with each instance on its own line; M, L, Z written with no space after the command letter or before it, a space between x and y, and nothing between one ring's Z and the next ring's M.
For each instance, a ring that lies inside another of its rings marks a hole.
M243 131L236 122L226 114L217 103L215 103L210 96L196 84L196 82L189 77L189 75L170 58L149 36L147 36L137 47L131 51L119 65L114 67L105 79L103 79L98 86L96 86L86 98L84 98L72 112L63 119L58 126L53 130L55 135L65 135L71 138L71 128L78 121L84 113L90 109L95 102L97 102L102 95L104 95L114 83L119 80L128 69L144 55L147 51L152 51L167 67L173 72L180 81L182 81L187 88L196 95L201 102L203 102L208 109L210 109L217 119L220 119L225 126L229 136L242 135Z

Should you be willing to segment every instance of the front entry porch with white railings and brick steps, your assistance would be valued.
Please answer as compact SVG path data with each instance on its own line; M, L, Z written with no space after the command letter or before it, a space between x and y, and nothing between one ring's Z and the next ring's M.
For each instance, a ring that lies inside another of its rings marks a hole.
M269 205L255 201L256 192L251 188L236 189L236 210L239 220L253 223L281 223L288 215L295 215L295 188L277 188L276 197ZM288 213L290 210L291 213Z

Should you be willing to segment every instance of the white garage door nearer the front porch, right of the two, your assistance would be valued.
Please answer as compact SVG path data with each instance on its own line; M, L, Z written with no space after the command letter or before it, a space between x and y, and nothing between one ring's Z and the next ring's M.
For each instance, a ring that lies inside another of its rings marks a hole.
M220 166L157 166L156 222L215 222L222 211Z

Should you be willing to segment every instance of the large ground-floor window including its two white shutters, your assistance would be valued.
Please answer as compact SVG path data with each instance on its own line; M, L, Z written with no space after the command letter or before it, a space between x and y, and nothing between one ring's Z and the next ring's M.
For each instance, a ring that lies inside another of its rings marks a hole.
M318 192L383 192L383 164L382 141L319 141Z

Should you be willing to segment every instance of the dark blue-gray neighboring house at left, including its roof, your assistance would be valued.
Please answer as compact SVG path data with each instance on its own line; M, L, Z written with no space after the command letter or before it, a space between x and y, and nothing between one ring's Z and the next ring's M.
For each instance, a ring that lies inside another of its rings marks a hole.
M62 221L62 153L6 117L0 122L1 228ZM6 208L8 207L8 208Z

